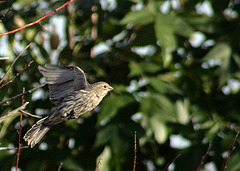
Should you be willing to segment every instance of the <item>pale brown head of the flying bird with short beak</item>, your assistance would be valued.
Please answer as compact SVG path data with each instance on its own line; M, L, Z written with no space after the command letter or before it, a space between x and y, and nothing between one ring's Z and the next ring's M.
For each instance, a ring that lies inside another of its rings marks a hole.
M92 84L92 88L97 93L97 95L104 97L109 91L112 91L113 88L105 82L97 82Z

